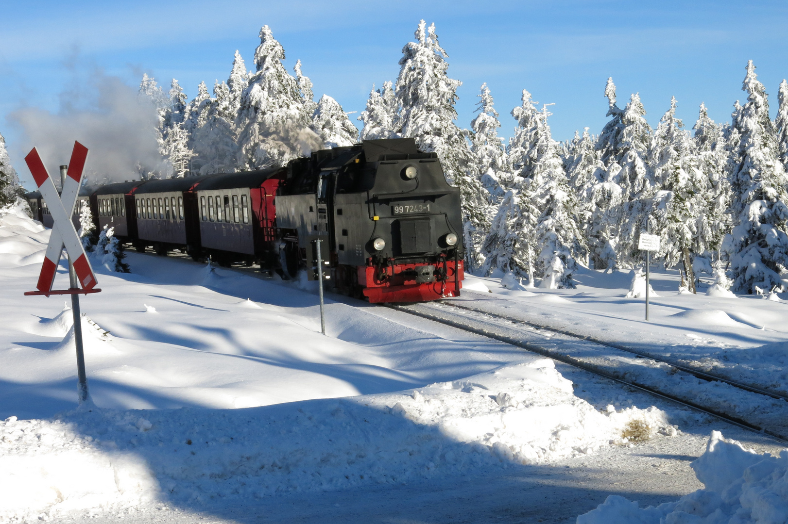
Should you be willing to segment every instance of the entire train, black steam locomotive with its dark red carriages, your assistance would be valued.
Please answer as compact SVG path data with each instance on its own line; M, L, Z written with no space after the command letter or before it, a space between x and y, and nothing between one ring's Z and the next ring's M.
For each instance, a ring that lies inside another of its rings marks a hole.
M141 252L177 249L315 279L320 242L324 278L341 293L414 302L456 297L462 287L459 188L413 138L323 149L281 168L113 183L80 199L99 231L113 227ZM28 201L50 225L40 194Z

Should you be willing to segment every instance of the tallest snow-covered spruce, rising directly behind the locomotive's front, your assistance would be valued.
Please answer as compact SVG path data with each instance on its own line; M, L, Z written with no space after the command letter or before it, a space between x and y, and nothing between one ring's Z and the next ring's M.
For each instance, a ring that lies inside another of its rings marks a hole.
M395 131L404 138L415 138L422 151L437 153L446 179L459 186L463 229L481 238L489 227L485 213L488 198L473 174L467 132L454 123L457 88L462 83L447 75L448 54L438 43L435 24L427 28L421 20L414 34L416 42L405 44L400 59L395 89L400 113ZM471 268L475 250L475 246L466 245L466 263Z

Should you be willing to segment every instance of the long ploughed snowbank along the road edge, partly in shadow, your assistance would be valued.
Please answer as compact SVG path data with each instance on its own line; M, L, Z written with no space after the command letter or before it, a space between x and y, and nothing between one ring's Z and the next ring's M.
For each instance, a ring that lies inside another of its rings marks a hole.
M0 423L0 520L400 483L671 431L656 408L595 410L547 359L407 393L12 417Z

